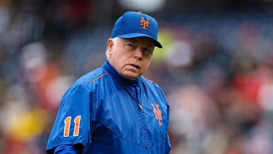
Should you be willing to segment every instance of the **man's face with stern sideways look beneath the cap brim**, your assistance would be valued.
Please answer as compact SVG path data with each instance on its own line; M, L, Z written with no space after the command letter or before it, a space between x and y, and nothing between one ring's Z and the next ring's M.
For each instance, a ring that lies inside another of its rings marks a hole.
M118 38L116 45L109 38L107 59L123 78L135 80L148 69L154 47L154 41L148 37Z

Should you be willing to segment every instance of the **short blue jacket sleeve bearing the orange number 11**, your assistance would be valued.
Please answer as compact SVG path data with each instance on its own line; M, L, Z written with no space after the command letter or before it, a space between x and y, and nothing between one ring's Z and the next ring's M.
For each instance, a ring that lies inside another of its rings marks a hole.
M96 111L90 88L75 86L63 96L55 123L53 125L46 152L53 153L59 145L84 146L88 149L92 138L92 128L96 120Z

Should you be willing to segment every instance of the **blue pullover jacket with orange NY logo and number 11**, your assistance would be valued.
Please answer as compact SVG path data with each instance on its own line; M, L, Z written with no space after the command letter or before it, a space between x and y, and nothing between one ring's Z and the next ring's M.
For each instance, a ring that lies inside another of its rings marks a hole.
M158 85L139 77L132 86L106 61L64 94L46 151L81 143L83 153L169 153L168 121Z

